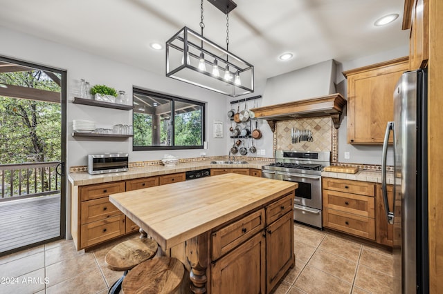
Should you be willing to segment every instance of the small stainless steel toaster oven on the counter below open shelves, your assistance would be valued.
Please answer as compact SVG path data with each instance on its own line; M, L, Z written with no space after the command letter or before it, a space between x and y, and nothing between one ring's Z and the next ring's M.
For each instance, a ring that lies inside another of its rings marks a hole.
M91 175L123 172L127 171L128 167L129 157L127 153L88 155L88 173Z

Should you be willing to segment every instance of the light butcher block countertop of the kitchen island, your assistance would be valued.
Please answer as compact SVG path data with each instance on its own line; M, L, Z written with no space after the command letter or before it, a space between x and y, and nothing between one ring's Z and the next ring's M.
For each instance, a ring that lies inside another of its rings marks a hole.
M296 188L292 182L228 173L112 194L109 200L166 250Z

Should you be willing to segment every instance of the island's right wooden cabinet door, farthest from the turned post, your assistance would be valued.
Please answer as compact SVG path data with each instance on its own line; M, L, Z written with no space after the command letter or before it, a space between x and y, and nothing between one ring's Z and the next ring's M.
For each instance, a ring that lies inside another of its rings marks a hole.
M294 264L293 213L291 211L266 228L266 287L268 292L278 284L284 273Z

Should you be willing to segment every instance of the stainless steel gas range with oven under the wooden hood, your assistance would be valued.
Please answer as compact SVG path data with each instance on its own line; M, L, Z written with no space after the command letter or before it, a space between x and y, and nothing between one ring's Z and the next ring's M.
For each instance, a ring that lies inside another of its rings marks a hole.
M322 228L321 171L330 165L330 152L275 151L275 163L262 166L262 177L298 183L293 219Z

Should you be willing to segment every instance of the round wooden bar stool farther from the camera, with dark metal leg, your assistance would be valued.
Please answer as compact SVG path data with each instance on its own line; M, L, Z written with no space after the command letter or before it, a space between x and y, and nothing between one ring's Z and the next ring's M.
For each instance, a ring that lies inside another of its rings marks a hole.
M123 276L115 282L109 289L110 294L119 293L122 282L125 280L128 271L137 264L154 257L157 252L157 242L148 239L143 230L140 239L132 239L114 246L105 256L105 262L112 271L125 271Z

